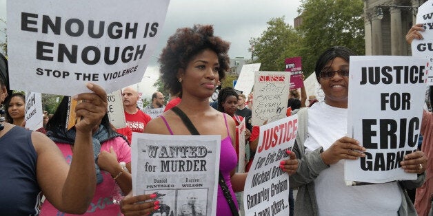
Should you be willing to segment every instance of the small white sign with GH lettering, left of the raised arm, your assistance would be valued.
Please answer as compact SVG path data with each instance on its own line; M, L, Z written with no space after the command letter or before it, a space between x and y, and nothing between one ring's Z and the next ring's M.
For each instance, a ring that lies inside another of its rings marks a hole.
M26 92L26 128L36 131L43 127L42 95L36 92Z

